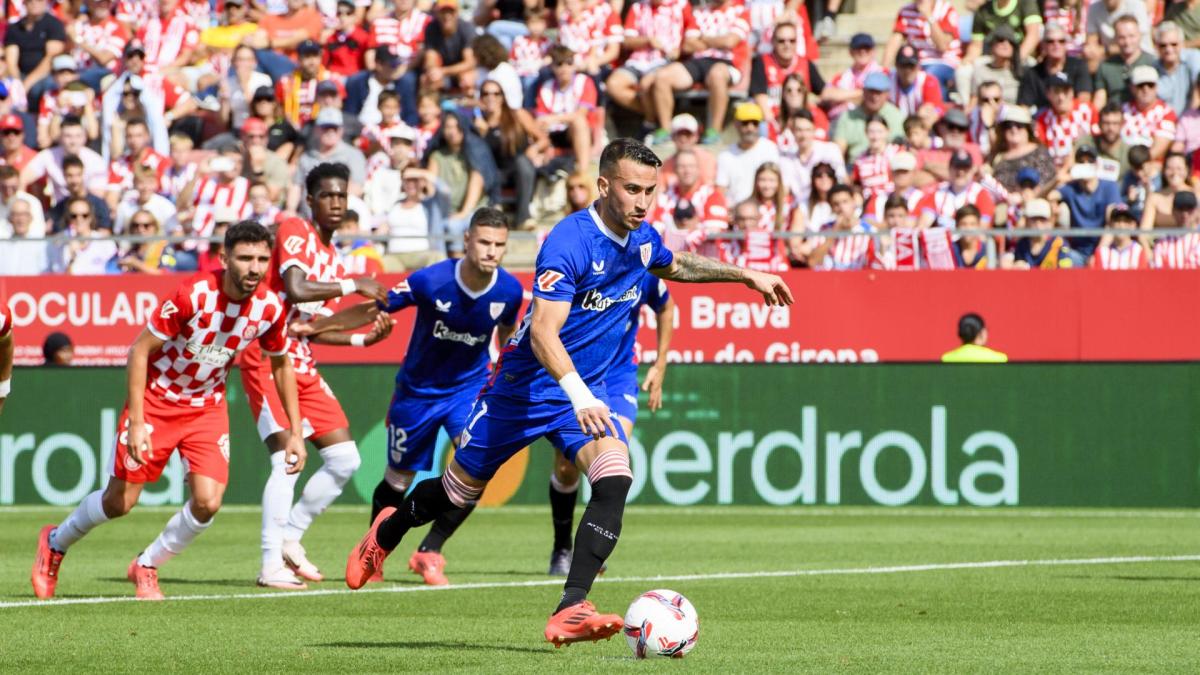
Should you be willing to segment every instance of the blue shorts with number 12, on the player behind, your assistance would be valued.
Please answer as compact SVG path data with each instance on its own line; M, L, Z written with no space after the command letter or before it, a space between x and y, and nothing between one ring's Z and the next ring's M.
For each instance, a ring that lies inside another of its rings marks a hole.
M438 429L444 428L451 441L457 438L478 394L478 383L437 398L416 396L397 387L388 408L388 467L395 471L432 468Z

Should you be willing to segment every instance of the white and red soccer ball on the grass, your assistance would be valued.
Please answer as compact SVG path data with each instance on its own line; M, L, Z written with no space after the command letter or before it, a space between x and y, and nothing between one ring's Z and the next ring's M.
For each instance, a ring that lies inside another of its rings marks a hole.
M625 641L637 658L683 658L698 637L696 608L674 591L647 591L625 613Z

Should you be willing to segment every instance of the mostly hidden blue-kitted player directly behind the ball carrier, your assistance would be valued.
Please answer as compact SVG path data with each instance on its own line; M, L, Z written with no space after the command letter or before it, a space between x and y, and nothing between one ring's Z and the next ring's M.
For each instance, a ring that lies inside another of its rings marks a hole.
M617 416L625 438L634 432L637 419L637 324L642 306L655 313L658 331L658 358L646 371L642 390L649 394L649 408L662 407L662 378L667 370L667 350L671 347L671 335L674 331L674 300L667 292L667 283L654 275L647 275L642 281L642 298L629 312L625 334L613 357L605 378L608 393L608 410ZM550 554L550 574L566 577L571 568L571 526L575 522L575 502L578 501L580 468L558 453L554 455L554 471L550 474L550 520L554 527L554 548ZM604 569L601 569L604 572Z

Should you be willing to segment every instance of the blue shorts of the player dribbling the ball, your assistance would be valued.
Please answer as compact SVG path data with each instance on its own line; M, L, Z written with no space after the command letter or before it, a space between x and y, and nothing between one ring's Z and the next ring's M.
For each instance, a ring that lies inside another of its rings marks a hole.
M628 444L616 418L613 426ZM593 441L580 429L569 401L530 402L485 393L470 408L455 461L472 478L491 480L502 464L544 436L572 462L580 448Z

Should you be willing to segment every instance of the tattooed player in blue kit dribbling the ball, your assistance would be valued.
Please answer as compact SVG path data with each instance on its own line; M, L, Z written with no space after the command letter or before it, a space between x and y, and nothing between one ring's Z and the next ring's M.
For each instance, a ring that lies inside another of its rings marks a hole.
M605 404L605 378L624 334L629 305L647 274L686 282L734 281L769 305L791 304L782 279L709 258L672 255L646 215L661 160L630 138L600 156L600 197L554 226L538 253L533 304L480 392L461 448L440 479L422 480L400 508L379 512L350 551L346 584L360 589L413 527L474 503L497 468L546 437L592 484L558 608L545 637L556 646L601 640L622 619L599 614L588 591L617 545L632 484L625 434Z

